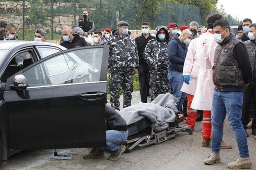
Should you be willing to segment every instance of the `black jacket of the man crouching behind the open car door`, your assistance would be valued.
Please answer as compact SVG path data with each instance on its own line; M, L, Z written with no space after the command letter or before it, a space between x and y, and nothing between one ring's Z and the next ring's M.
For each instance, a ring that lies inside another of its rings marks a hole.
M109 104L106 104L105 117L107 122L107 130L127 130L125 120Z

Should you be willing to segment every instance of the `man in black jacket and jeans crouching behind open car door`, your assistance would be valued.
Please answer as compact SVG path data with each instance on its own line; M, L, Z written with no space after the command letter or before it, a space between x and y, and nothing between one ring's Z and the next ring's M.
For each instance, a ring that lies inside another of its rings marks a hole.
M107 147L94 148L88 155L84 155L84 159L104 158L104 149L111 151L111 155L107 158L111 161L117 161L125 151L123 145L128 137L128 130L125 120L110 105L106 104L106 141Z

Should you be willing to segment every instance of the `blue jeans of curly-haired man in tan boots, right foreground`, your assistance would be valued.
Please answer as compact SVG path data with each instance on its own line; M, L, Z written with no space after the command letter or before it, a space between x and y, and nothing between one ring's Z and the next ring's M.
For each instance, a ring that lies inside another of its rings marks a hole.
M235 133L239 155L249 157L245 129L242 126L243 92L214 91L212 104L212 152L219 153L223 137L223 122L228 117L228 123Z

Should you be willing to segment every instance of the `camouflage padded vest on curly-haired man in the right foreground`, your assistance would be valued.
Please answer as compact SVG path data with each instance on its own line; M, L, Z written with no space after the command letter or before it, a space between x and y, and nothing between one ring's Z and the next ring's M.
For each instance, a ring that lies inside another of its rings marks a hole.
M223 91L223 87L243 87L245 84L238 60L233 54L234 47L238 43L242 42L231 34L216 47L213 82L218 91Z

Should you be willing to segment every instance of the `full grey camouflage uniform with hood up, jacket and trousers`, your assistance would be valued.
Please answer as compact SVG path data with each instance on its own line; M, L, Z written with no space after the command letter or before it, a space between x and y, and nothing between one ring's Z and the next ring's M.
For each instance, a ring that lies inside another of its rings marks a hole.
M158 34L161 29L166 32L164 40L158 39ZM152 94L150 101L153 101L159 94L168 93L170 91L169 81L167 79L169 60L167 55L167 45L169 33L165 26L156 28L156 39L148 41L143 57L146 63L150 66L150 88Z

